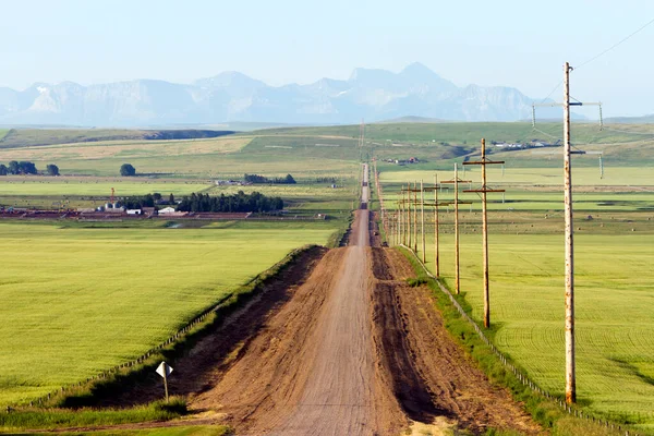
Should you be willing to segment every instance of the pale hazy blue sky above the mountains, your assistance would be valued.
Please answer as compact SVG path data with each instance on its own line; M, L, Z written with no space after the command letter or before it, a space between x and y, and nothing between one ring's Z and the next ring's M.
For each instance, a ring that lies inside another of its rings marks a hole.
M544 97L572 65L654 19L654 1L2 2L0 86L133 78L191 82L237 70L271 85L347 78L419 61L457 85ZM581 68L572 95L607 114L654 113L654 25ZM557 90L555 98L560 99Z

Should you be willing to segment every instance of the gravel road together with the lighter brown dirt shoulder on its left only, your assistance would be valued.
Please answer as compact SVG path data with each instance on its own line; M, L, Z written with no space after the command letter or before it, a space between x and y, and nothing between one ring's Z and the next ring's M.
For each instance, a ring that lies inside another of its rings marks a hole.
M367 199L363 187L362 207ZM349 246L323 258L243 358L193 407L217 407L240 433L253 435L400 429L402 413L376 371L367 226L368 211L362 208Z

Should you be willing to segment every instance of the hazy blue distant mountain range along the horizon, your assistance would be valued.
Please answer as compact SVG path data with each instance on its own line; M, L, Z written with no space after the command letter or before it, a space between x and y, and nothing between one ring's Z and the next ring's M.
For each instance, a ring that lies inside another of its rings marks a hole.
M517 121L534 99L511 87L458 87L421 63L400 73L356 69L347 81L268 86L238 72L192 84L137 80L0 88L0 124L152 126L264 122L341 124L397 118ZM559 117L542 110L540 117Z

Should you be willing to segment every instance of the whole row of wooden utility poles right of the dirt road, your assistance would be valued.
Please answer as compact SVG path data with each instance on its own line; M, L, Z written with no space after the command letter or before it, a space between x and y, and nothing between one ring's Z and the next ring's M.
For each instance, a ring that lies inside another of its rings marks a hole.
M565 301L566 301L566 323L565 323L565 340L566 340L566 402L568 404L577 401L577 379L576 379L576 343L574 343L574 245L573 245L573 221L572 221L572 160L571 155L590 154L582 150L572 150L570 141L570 107L571 106L598 106L601 104L592 102L584 104L581 101L570 101L570 71L572 68L568 62L564 65L564 102L562 104L546 104L534 105L535 123L535 107L536 106L562 106L564 108L564 208L565 208ZM601 112L602 113L602 112ZM600 160L601 177L604 175L604 168ZM481 194L482 198L482 252L483 252L483 282L484 282L484 326L491 326L491 296L488 283L488 217L487 217L487 201L486 194L498 193L504 190L493 190L488 187L486 181L487 165L502 165L504 161L492 161L486 157L486 143L482 140L481 159L477 161L467 161L467 165L479 165L482 167L482 186L479 190L465 190L464 192ZM414 252L417 251L417 208L421 214L421 242L422 242L422 261L426 262L426 242L425 242L425 206L434 208L434 270L436 277L440 277L440 261L439 261L439 222L438 207L455 206L455 291L460 293L459 278L459 205L470 202L459 201L459 183L470 183L458 177L458 167L455 165L455 178L452 180L438 183L437 177L434 177L434 186L425 187L423 181L407 183L402 185L400 193L401 198L398 201L395 214L386 214L385 223L387 223L389 241L395 244L409 246ZM453 185L453 201L439 202L438 191L444 184ZM425 192L434 192L433 202L425 202ZM420 193L420 202L417 199ZM504 195L504 194L502 194Z

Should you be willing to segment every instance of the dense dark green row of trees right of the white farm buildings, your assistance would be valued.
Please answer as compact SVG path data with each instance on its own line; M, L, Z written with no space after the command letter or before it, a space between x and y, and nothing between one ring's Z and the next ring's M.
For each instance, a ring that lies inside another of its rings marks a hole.
M239 191L237 194L210 196L209 194L191 194L182 198L178 210L181 211L272 211L283 209L283 201L280 197L268 197L262 193L253 192L245 194Z

